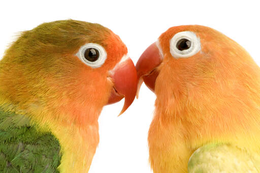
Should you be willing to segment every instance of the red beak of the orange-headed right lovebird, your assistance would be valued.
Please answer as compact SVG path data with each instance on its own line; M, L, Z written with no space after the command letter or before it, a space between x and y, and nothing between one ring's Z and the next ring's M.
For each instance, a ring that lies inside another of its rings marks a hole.
M156 42L151 44L140 56L137 64L138 89L137 98L143 81L146 86L154 92L155 80L159 72L156 69L161 63L161 55Z

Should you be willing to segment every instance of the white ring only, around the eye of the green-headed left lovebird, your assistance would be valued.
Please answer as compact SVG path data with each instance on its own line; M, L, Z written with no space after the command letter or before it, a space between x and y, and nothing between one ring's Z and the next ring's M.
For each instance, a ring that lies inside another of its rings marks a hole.
M99 51L99 57L96 61L94 62L91 62L91 61L88 61L86 58L85 58L85 51L89 48L93 48L93 49L96 49ZM96 43L87 43L83 46L80 47L79 51L76 53L76 56L79 57L79 59L85 63L86 65L92 67L92 68L99 68L101 67L106 59L107 59L107 52L106 50L104 49L104 47L102 47L101 45L99 44L96 44Z

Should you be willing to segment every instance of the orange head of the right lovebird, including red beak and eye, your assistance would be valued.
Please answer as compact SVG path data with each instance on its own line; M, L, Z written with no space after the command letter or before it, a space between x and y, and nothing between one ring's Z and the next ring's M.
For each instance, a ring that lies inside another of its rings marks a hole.
M144 81L157 100L182 101L180 105L193 104L194 99L215 100L216 95L239 96L245 90L240 85L259 77L258 66L244 48L201 25L169 28L144 51L136 68L138 92Z

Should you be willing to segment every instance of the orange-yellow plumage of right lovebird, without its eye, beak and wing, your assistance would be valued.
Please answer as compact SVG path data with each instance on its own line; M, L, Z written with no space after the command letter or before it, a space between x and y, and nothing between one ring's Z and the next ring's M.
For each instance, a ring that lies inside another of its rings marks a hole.
M169 42L183 31L200 38L201 50L176 59L170 53ZM157 98L148 135L153 171L187 172L192 153L211 143L260 156L260 68L246 50L200 25L172 27L158 42L163 61L156 68ZM195 156L192 163L196 163ZM202 172L212 172L211 168Z

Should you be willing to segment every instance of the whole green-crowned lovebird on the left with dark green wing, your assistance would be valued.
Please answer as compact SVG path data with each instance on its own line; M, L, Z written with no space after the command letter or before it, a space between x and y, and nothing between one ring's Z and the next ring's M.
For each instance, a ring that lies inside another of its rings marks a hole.
M137 71L107 27L77 20L22 32L0 61L0 172L88 172L102 108L134 101Z

